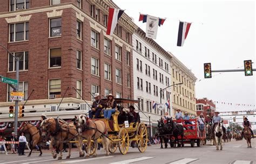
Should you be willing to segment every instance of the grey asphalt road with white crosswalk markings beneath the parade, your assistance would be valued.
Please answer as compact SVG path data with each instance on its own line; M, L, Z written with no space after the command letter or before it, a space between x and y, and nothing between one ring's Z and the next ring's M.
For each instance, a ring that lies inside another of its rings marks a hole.
M72 149L71 159L57 160L53 159L50 152L32 153L31 157L18 156L17 154L0 154L0 163L234 163L234 164L256 164L256 139L252 139L252 148L247 148L245 140L225 143L223 151L216 151L215 146L185 147L160 149L160 145L147 147L146 152L140 153L137 148L129 148L126 155L118 152L105 156L103 149L97 152L96 158L84 159L78 158L77 149ZM26 153L28 154L28 153ZM68 153L64 153L63 158Z

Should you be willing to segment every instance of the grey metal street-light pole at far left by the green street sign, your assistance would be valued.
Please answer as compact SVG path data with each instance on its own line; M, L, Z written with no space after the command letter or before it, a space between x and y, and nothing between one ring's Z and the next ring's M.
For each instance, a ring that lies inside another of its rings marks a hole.
M17 85L11 87L14 89L14 91L18 91L19 88L19 58L17 58L14 54L12 54L9 49L4 47L4 45L0 44L1 47L5 49L9 54L14 56L15 62L16 62L16 80L17 80ZM19 107L19 101L15 101L15 115L14 115L14 132L17 134L18 133L18 107Z

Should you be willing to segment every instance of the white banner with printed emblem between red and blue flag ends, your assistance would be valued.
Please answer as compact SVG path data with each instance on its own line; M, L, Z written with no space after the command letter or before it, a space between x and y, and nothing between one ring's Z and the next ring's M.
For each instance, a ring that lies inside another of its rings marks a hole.
M139 21L142 21L143 23L145 23L145 22L147 23L146 24L146 37L156 39L158 26L163 25L165 22L165 19L153 17L150 15L140 14Z

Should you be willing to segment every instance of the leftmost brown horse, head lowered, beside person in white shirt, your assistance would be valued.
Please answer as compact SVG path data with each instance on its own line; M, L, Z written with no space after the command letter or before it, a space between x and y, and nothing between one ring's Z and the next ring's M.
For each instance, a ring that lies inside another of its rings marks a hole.
M19 131L23 131L23 132L29 131L29 133L31 135L33 143L30 146L30 153L29 153L28 156L31 155L32 150L36 145L39 147L39 151L40 151L39 156L42 156L43 153L42 153L42 150L41 150L41 145L38 145L38 144L41 144L43 142L43 139L41 137L41 130L38 127L30 124L29 122L23 122L21 124L21 128L19 129Z

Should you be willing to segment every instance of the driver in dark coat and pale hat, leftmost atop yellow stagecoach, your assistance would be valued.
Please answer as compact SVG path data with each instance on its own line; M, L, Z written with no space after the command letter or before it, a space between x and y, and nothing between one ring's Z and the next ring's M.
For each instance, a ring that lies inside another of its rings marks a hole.
M100 99L100 95L98 93L95 94L95 101L92 103L92 110L89 111L89 118L99 118L100 112L105 108L105 102Z

